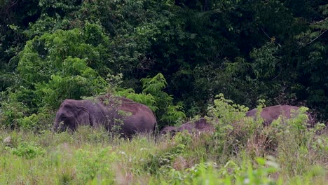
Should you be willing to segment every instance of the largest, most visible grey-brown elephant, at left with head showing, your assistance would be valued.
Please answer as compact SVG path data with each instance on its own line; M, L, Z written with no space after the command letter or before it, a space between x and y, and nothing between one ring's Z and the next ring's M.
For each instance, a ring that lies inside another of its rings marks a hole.
M144 104L108 95L95 100L64 100L57 111L53 130L76 130L80 125L118 130L122 135L154 132L156 117Z

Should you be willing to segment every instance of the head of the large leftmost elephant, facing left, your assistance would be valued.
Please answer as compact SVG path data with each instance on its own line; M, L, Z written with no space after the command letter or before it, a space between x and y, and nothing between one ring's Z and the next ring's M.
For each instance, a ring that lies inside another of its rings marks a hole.
M66 129L76 130L78 125L90 125L90 114L85 101L64 100L58 109L53 130L62 132Z

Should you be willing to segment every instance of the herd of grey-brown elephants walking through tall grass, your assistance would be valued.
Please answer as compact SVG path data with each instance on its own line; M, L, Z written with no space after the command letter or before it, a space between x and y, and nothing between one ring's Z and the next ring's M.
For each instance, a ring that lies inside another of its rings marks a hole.
M283 118L296 116L299 107L276 105L266 107L261 111L264 125L270 125L280 115ZM308 124L313 125L313 118L308 115ZM252 109L246 116L257 117L257 109ZM156 117L153 111L144 104L139 104L124 97L102 95L94 100L64 100L55 117L53 130L76 130L80 125L90 125L93 128L104 127L109 131L117 131L125 137L136 133L153 133L156 131ZM214 125L207 123L205 118L187 122L180 127L166 126L160 130L160 135L175 132L214 132Z

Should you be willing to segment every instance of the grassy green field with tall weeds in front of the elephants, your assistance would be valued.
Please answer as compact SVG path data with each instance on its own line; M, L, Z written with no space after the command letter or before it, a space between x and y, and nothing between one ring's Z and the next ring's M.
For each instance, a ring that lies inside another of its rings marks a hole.
M0 184L326 184L327 132L254 121L210 134L1 130Z

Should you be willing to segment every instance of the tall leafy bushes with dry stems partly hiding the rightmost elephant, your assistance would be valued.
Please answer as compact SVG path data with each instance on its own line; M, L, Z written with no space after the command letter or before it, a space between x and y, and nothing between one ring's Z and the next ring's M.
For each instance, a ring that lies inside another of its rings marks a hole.
M315 133L324 129L322 123L317 123L315 128L309 129L306 115L308 109L305 107L301 107L294 118L286 119L280 116L270 126L264 126L264 120L259 114L256 119L245 118L247 107L234 104L223 95L217 97L219 99L214 100L214 105L208 109L208 119L216 128L210 139L210 148L212 152L220 153L219 158L224 161L240 151L246 151L251 157L282 155L280 157L285 159L295 158L292 156L293 152L289 153L291 156L286 156L286 150L296 152L297 149L304 149L307 155L310 155L310 143L315 142ZM262 106L257 107L258 112L261 112ZM287 167L287 164L283 164ZM298 170L301 169L302 167Z

